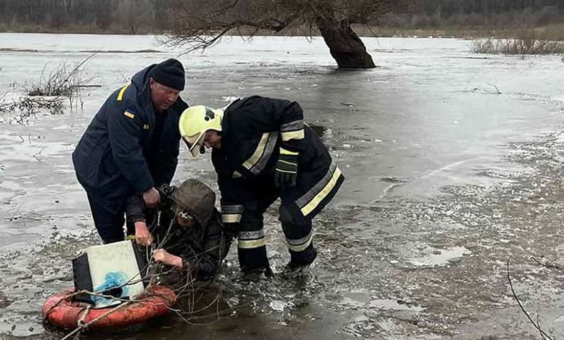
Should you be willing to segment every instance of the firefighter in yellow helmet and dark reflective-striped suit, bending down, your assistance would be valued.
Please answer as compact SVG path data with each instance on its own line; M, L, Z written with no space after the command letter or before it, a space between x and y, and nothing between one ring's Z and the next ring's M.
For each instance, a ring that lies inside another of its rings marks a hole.
M315 132L303 123L298 103L253 96L225 110L194 106L180 116L179 129L192 155L213 148L222 221L227 232L237 233L242 271L270 273L263 213L278 197L288 267L301 268L315 260L311 220L344 178Z

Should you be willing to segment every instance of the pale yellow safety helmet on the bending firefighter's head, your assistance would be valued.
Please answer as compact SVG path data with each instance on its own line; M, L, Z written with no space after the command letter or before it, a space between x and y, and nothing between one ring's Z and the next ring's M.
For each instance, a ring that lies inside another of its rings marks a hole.
M191 106L182 112L178 129L192 156L196 157L208 130L221 131L222 119L223 110L204 105Z

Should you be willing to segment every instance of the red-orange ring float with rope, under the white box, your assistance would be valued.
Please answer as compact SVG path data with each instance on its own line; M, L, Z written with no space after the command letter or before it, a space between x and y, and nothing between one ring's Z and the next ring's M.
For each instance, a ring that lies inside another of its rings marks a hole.
M49 323L61 327L74 329L78 323L85 324L107 314L110 310L115 311L103 316L90 324L88 329L124 327L140 323L142 321L166 314L176 300L176 294L168 287L156 285L149 288L149 294L143 294L138 301L129 302L127 305L116 308L116 306L89 309L84 303L70 301L69 295L74 293L74 288L67 288L60 293L51 296L43 304L41 314Z

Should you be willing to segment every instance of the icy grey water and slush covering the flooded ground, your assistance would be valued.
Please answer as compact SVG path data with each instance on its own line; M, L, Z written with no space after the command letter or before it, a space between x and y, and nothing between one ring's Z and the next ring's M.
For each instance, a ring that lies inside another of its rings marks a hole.
M205 306L88 339L506 339L564 336L561 57L475 55L457 39L365 38L379 66L336 70L321 39L239 38L179 56L182 97L223 106L260 94L298 101L346 176L314 223L305 275L239 278L234 247ZM82 108L0 117L0 338L58 339L43 328L50 294L72 285L70 259L98 241L70 153L112 90L176 57L154 37L0 34L0 98L43 68L76 63L94 87ZM180 155L175 181L214 185L209 155ZM288 261L267 212L275 272ZM531 259L535 259L543 266ZM188 321L189 323L187 323Z

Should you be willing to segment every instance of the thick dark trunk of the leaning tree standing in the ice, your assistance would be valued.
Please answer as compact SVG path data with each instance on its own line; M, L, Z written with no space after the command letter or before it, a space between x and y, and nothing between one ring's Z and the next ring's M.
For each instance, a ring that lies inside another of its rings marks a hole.
M340 69L369 69L376 67L372 57L366 52L364 43L351 29L349 21L316 19L319 31L329 47L331 56Z

